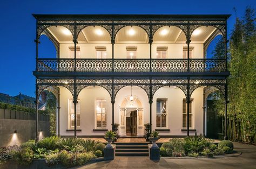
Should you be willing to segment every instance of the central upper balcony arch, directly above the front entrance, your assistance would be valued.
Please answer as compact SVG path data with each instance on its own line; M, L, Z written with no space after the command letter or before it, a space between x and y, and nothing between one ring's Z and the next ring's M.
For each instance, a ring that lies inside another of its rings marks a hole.
M148 59L149 37L142 27L125 26L115 37L114 54L118 59Z

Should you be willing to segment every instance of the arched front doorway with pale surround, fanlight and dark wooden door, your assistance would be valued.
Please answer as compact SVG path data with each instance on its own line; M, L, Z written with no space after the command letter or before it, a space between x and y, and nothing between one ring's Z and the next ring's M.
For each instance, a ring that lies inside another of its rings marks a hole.
M120 105L120 131L126 137L143 136L143 105L137 96L126 96Z

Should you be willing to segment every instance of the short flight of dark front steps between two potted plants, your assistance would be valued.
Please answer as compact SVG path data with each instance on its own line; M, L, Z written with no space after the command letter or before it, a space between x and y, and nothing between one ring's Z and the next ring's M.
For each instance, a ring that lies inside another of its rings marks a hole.
M116 144L116 156L149 156L147 144L150 143L113 143Z

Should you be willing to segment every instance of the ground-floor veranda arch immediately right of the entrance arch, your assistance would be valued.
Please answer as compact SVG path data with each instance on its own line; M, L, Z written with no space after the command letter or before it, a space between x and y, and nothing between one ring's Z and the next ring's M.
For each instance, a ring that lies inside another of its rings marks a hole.
M181 135L181 129L186 128L185 98L183 90L176 86L157 89L152 103L152 130L158 130L160 135L166 135L170 130L172 135Z

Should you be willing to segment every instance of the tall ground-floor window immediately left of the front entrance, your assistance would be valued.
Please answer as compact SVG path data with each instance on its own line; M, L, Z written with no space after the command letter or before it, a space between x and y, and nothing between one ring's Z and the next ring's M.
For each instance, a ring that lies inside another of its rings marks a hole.
M106 128L106 100L96 100L96 128Z

